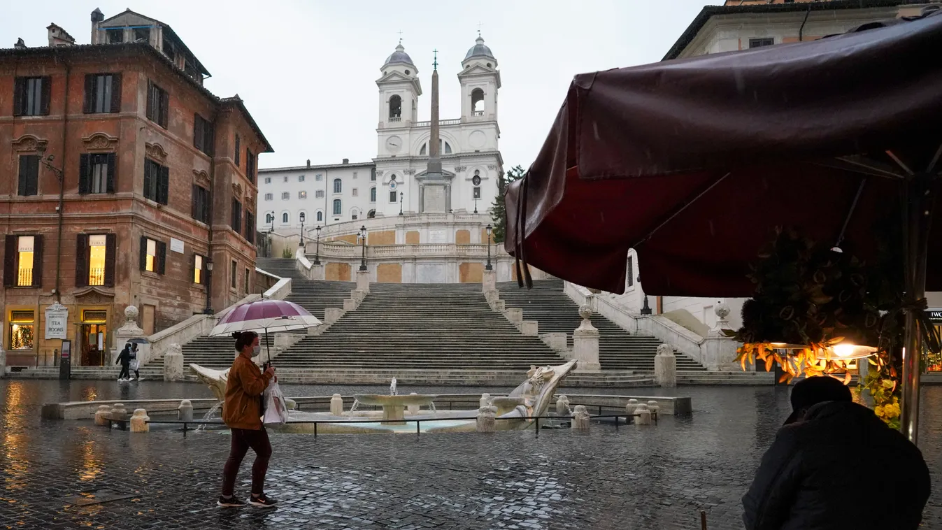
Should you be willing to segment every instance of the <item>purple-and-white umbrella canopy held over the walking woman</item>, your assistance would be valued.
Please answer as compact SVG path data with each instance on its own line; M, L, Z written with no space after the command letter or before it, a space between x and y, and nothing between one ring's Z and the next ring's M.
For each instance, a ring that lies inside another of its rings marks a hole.
M235 331L291 331L318 326L320 321L300 305L286 300L257 300L236 306L219 320L210 336Z

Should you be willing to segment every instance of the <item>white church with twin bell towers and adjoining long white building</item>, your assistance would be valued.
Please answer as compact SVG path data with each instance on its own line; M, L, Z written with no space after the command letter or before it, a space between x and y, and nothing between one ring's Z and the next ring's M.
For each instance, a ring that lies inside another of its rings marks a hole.
M437 66L436 57L433 85ZM259 232L300 234L303 226L308 233L317 226L400 213L478 212L487 223L484 214L503 173L497 124L500 72L490 48L479 37L463 58L457 74L462 90L457 118L439 119L434 86L432 120L418 120L419 71L401 43L380 72L376 157L363 163L260 169Z

